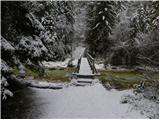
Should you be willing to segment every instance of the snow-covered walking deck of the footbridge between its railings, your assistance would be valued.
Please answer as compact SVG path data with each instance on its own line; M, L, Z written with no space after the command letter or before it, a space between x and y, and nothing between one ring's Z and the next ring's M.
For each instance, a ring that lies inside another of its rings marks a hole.
M79 74L80 75L92 75L92 70L89 66L89 63L86 57L82 57L81 59Z

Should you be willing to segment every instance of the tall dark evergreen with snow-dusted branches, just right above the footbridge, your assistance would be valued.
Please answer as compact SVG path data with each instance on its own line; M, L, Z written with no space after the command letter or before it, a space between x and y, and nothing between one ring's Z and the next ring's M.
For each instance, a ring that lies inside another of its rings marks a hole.
M108 39L115 23L115 2L91 2L88 9L88 28L86 42L92 55L104 53L111 41Z

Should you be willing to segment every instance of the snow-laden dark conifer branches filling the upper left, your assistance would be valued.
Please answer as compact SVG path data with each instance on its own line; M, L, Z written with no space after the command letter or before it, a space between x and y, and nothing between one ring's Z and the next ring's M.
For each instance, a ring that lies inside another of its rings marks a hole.
M5 93L4 88L13 85L6 84L12 78L13 68L18 69L19 76L25 76L26 66L44 74L42 61L64 60L70 54L74 9L71 1L2 1L1 6Z

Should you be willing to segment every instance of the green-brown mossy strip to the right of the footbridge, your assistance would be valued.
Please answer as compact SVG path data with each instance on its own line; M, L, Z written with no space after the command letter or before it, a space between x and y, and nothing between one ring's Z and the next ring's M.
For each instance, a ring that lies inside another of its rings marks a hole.
M152 81L145 79L144 73L136 71L99 71L101 75L99 80L102 84L110 83L116 89L130 89L135 84L140 84L141 81L146 80L145 85L151 85ZM158 79L158 73L151 73L150 79Z

